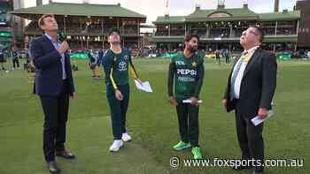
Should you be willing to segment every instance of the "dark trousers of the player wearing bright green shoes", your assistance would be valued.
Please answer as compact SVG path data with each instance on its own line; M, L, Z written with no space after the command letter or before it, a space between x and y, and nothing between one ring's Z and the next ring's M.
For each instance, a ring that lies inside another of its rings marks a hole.
M179 120L179 132L181 140L190 142L191 146L198 147L199 138L199 124L198 113L199 107L193 106L189 103L182 103L178 101L179 105L176 106L176 113Z

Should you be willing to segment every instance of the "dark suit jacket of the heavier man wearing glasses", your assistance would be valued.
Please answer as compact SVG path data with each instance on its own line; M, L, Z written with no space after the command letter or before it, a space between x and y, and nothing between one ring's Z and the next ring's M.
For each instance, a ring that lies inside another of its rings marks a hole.
M227 111L238 110L246 117L255 117L260 108L270 110L276 86L275 55L260 48L256 49L244 70L238 104L235 104L230 98L230 81L234 66L229 74L223 97L228 101Z

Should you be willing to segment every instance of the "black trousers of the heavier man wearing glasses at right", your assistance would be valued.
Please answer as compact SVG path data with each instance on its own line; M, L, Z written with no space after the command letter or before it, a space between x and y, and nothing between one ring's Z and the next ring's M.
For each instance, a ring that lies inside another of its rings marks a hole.
M237 104L237 102L236 102ZM243 116L236 110L236 135L242 152L242 159L260 160L264 163L264 140L262 131L264 124L253 125L249 116ZM263 166L253 163L254 170L262 171ZM255 167L256 166L256 167Z

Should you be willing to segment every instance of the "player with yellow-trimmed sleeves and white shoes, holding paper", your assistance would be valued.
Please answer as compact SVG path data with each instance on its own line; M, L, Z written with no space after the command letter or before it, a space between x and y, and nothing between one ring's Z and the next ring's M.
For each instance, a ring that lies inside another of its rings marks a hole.
M120 47L120 31L112 28L109 32L110 49L103 58L105 69L106 97L112 117L113 143L110 151L116 152L123 146L123 141L131 140L126 130L126 113L129 102L128 71L137 77L136 69L131 61L131 52Z

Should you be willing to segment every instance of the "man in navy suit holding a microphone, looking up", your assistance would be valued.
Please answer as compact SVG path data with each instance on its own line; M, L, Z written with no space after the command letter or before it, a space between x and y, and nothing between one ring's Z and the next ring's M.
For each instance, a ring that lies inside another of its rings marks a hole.
M43 36L31 42L30 52L35 64L35 94L40 96L43 112L43 152L50 173L59 173L55 155L74 159L65 148L69 96L74 98L69 49L66 41L58 41L58 24L52 14L39 21Z

